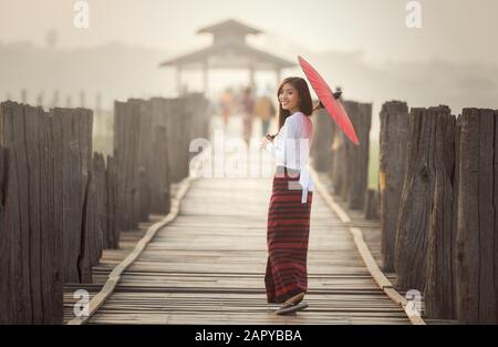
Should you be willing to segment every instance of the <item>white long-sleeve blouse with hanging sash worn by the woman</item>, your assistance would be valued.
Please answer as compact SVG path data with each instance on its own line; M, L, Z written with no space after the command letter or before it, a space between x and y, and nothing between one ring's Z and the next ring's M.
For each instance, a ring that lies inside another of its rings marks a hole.
M286 119L272 142L266 146L274 157L277 165L300 170L299 184L302 187L301 203L308 201L308 192L313 191L309 159L313 141L313 123L302 112L295 112Z

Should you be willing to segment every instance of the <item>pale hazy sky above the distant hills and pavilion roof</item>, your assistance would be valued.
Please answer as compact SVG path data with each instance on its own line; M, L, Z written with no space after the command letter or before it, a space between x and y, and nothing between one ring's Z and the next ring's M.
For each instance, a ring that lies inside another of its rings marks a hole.
M0 43L59 47L121 41L170 51L205 45L195 31L228 18L311 51L363 51L370 62L498 62L497 0L421 0L422 29L405 24L407 0L89 0L90 28L73 25L76 0L0 0Z

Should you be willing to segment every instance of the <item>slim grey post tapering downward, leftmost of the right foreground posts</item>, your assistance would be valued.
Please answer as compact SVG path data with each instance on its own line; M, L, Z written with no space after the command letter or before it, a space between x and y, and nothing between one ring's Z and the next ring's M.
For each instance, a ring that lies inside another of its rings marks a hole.
M385 272L393 272L397 215L407 164L408 106L406 102L386 102L382 105L380 118L382 264Z

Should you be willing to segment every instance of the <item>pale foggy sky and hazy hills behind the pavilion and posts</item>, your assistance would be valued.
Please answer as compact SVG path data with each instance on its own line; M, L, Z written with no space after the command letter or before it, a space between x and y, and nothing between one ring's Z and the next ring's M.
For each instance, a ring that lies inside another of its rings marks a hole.
M174 68L159 63L210 45L203 27L235 19L263 31L248 43L297 61L303 55L346 99L498 108L498 1L421 0L422 29L408 29L405 0L89 0L90 28L76 29L73 0L0 0L0 100L103 109L114 100L175 96ZM299 68L282 79L303 76ZM248 71L210 71L209 95L246 85ZM276 88L273 73L256 73ZM201 71L183 83L200 91ZM97 96L98 95L98 96ZM314 94L313 94L314 96Z

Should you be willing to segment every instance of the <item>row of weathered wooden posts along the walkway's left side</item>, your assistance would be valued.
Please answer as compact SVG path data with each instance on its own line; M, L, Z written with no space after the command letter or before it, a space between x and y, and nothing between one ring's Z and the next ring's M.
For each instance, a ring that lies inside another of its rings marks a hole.
M63 285L92 283L121 231L169 212L206 110L198 94L116 102L104 159L91 110L0 104L0 324L62 324Z

